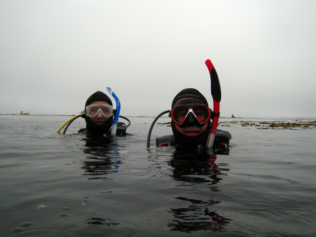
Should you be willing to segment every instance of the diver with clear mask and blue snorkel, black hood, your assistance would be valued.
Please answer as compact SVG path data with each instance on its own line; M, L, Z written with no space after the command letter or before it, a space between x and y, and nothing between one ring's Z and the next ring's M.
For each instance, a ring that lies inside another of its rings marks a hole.
M78 133L85 134L87 137L126 136L126 128L130 126L131 121L124 116L119 116L119 99L112 92L111 88L107 88L107 90L116 100L116 110L113 110L111 99L103 92L97 91L87 99L85 110L81 111L80 115L67 121L57 132L68 123L64 129L63 134L65 134L70 123L76 118L82 117L86 121L86 127L81 128ZM129 122L128 125L118 122L119 117L127 120Z

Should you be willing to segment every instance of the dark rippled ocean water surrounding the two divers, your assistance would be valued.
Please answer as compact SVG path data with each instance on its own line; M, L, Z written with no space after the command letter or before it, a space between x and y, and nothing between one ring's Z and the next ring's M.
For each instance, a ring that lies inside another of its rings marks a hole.
M0 116L1 236L316 234L309 120L220 119L229 151L205 153L155 147L166 124L146 148L154 118L129 117L134 135L101 141L76 134L82 118L56 133L70 118ZM309 125L280 125L293 122Z

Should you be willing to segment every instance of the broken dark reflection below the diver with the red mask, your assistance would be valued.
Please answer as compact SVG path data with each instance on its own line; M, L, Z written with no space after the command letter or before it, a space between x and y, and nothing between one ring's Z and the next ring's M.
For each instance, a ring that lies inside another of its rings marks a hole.
M173 179L180 181L180 186L195 186L205 183L209 185L210 191L221 191L216 187L222 178L229 171L228 164L215 163L216 154L177 149L173 154L173 159L169 165L173 167ZM212 205L219 204L221 201L198 200L186 197L176 197L185 201L182 208L171 209L169 211L177 219L168 224L170 230L191 232L196 230L223 231L224 227L231 219L211 210Z

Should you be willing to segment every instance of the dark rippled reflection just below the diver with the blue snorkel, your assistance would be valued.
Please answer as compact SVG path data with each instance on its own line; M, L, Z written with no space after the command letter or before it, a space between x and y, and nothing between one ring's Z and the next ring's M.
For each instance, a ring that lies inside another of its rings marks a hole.
M83 153L89 154L86 158L89 161L84 161L82 169L84 169L83 175L94 176L88 179L106 179L112 178L106 177L106 175L118 172L120 164L123 164L119 159L118 144L111 138L95 138L85 139L86 145L83 149Z

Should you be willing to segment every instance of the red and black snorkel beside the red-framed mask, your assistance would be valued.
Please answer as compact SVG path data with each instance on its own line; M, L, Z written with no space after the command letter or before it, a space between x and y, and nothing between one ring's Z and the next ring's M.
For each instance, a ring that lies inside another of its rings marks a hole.
M207 68L210 71L211 76L211 94L213 97L213 104L214 104L214 117L212 121L212 126L210 128L209 137L207 138L206 148L212 148L215 140L215 134L217 132L217 124L218 124L218 117L219 117L219 103L221 101L222 93L221 93L221 85L218 80L218 76L216 70L212 64L212 62L208 59L205 61Z

